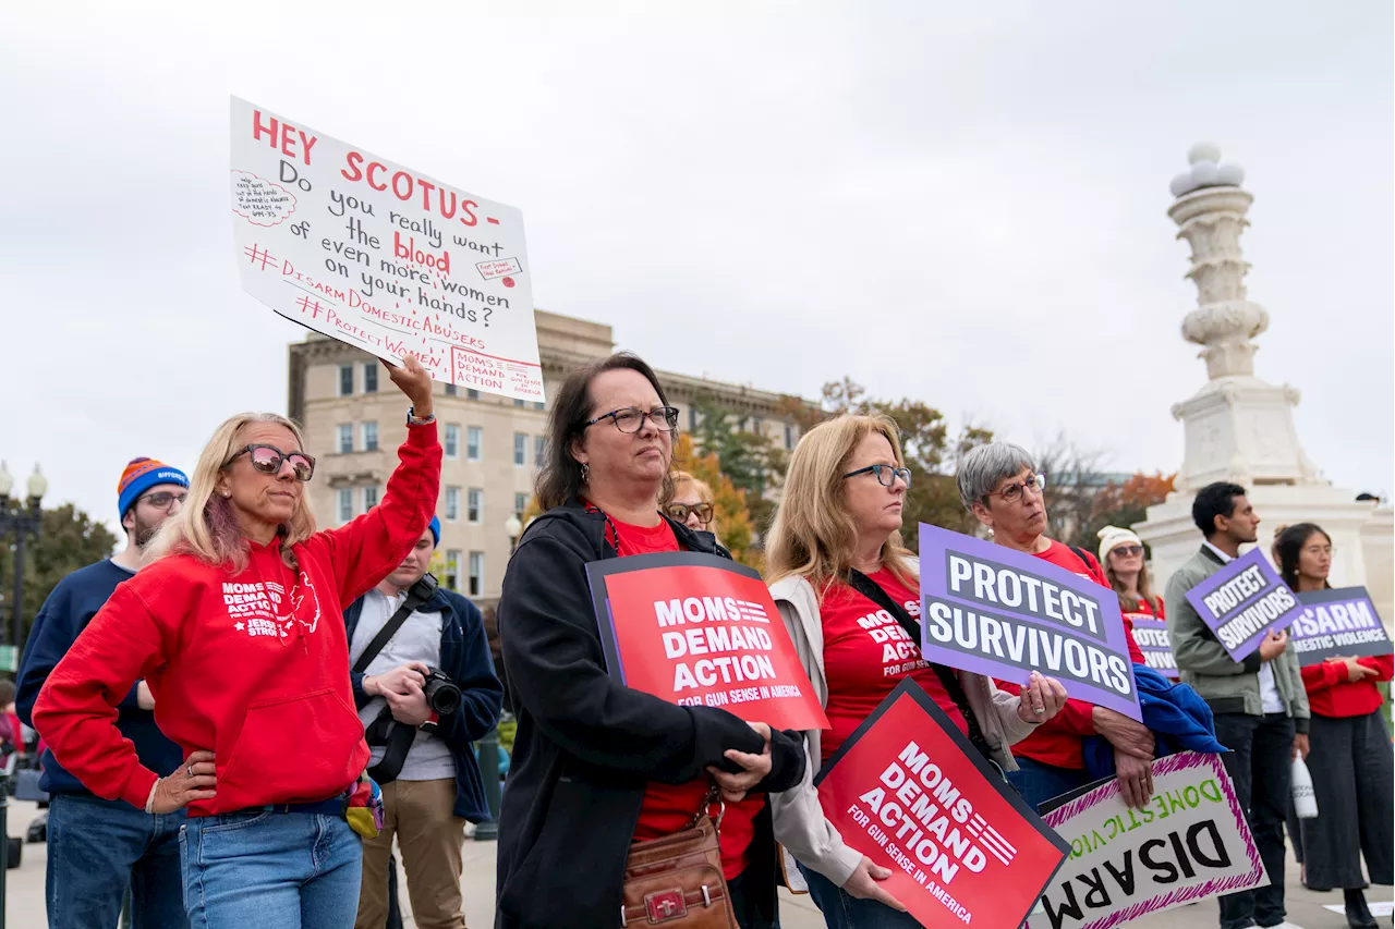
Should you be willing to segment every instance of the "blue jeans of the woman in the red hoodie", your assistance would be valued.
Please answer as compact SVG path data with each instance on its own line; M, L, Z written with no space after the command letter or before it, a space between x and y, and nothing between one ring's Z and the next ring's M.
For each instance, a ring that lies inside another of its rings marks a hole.
M349 929L359 912L363 840L339 816L191 816L180 856L194 929Z

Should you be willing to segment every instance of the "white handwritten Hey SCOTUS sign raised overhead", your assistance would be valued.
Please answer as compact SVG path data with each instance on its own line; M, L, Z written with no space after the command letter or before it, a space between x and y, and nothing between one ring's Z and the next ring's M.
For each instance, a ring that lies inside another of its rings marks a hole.
M250 294L438 381L543 400L523 213L236 96L232 162Z

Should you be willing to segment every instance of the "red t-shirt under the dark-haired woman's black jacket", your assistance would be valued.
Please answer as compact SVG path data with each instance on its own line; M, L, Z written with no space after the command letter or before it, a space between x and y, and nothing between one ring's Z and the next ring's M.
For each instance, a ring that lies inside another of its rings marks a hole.
M611 518L615 527L615 552L628 555L651 555L665 551L681 551L678 537L667 520L657 526L632 526ZM635 840L658 838L685 829L698 813L710 780L703 777L688 784L660 784L650 781L644 787L644 799L639 805L639 824L635 826ZM731 880L746 869L746 852L756 837L756 815L764 806L764 798L748 795L739 803L727 803L717 840L721 845L721 870Z

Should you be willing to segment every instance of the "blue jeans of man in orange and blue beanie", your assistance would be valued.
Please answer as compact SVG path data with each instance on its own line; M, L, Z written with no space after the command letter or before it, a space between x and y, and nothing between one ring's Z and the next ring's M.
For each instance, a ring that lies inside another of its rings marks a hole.
M116 926L131 889L134 929L183 928L179 827L126 801L54 794L49 805L45 900L52 929Z

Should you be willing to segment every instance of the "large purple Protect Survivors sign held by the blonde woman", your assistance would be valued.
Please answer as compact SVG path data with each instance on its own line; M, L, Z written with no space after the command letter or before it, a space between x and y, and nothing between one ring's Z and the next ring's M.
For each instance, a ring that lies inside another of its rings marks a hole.
M1119 597L1018 551L921 523L921 650L929 661L1027 683L1143 721Z

